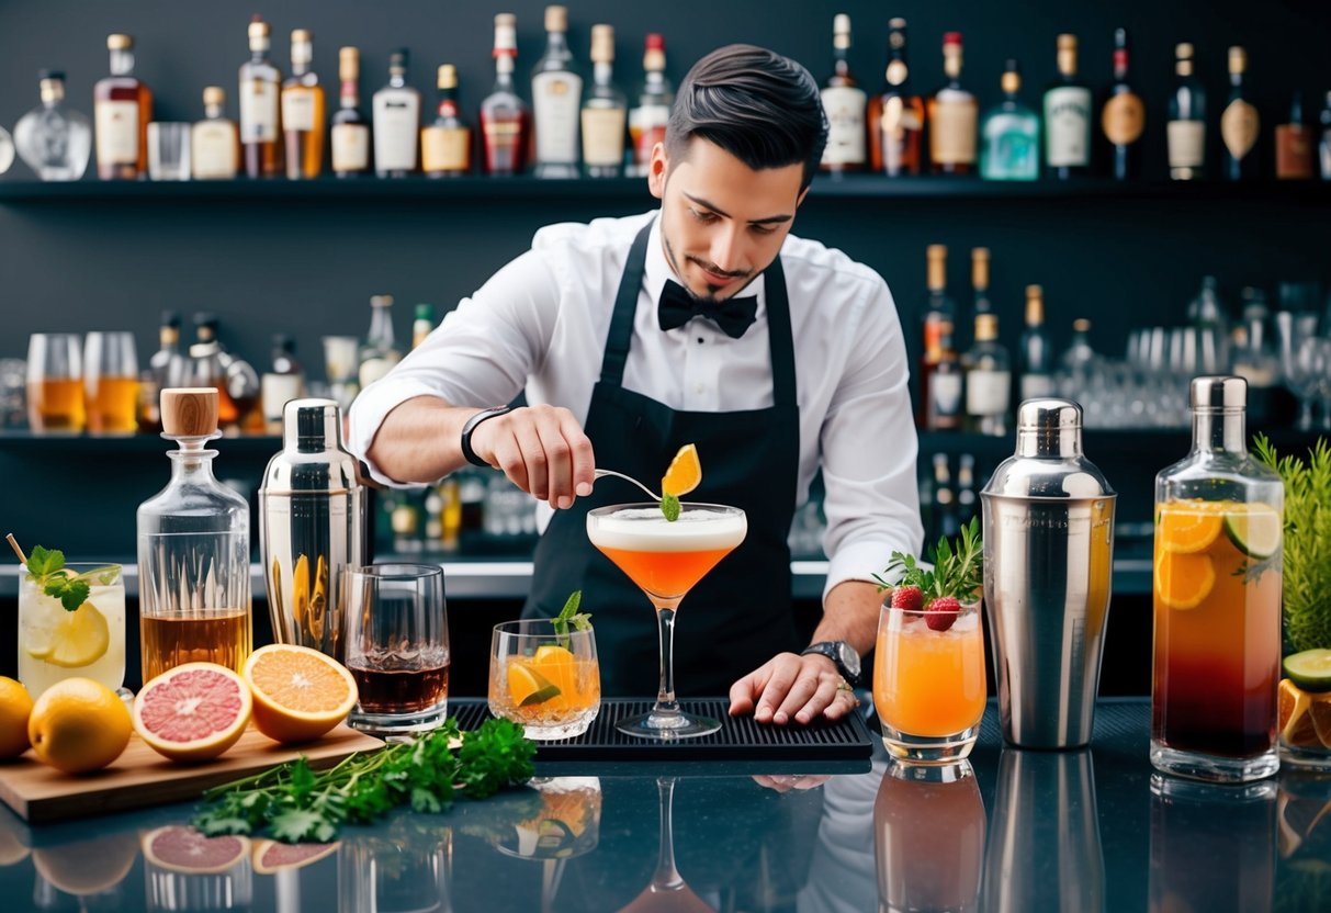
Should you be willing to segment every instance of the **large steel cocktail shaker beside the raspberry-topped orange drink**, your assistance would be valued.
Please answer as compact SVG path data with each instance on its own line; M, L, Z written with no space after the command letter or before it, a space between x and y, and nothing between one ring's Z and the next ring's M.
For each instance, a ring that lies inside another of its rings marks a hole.
M1017 453L980 496L1004 739L1025 748L1085 745L1109 616L1117 495L1082 455L1081 406L1021 403Z

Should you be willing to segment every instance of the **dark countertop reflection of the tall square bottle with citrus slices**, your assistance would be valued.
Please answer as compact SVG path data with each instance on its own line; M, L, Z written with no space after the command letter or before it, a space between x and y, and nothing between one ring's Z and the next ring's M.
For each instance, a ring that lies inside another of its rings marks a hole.
M1275 783L1211 785L1151 775L1150 910L1271 909Z

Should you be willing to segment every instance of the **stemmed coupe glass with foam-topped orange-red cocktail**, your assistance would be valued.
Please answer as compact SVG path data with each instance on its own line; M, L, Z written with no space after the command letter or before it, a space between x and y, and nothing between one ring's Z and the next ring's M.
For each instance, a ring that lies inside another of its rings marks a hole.
M587 538L636 583L656 607L660 635L660 688L650 713L620 720L630 736L685 739L721 728L707 716L684 713L675 700L675 612L680 600L708 571L735 550L748 532L739 507L680 504L667 520L660 504L614 504L587 514Z

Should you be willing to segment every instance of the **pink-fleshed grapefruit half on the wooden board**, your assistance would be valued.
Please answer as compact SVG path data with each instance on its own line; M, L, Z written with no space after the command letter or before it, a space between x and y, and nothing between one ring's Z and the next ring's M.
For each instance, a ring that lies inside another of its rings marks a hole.
M206 761L245 733L250 704L249 685L225 665L181 663L134 697L134 729L173 761Z

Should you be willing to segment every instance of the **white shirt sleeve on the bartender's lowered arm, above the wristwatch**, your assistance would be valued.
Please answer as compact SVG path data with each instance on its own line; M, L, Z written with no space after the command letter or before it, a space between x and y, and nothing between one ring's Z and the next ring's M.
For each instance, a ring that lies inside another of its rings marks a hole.
M829 556L823 595L843 580L873 580L893 551L920 554L918 438L910 411L901 321L881 278L823 422L823 502Z

